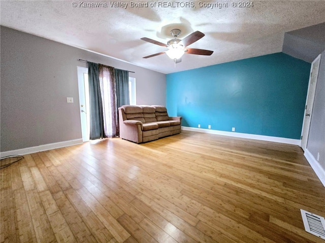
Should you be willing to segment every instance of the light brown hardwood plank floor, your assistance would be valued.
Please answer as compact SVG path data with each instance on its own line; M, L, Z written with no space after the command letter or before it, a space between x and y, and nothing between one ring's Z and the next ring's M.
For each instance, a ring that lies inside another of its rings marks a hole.
M321 242L300 147L182 131L24 155L1 170L1 242Z

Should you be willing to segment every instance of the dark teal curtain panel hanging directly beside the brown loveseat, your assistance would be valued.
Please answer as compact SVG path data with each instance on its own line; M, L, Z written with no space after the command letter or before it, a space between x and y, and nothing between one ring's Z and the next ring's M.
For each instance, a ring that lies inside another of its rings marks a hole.
M116 84L116 106L117 106L117 126L116 135L119 136L119 117L118 108L122 105L130 104L129 90L128 90L128 71L121 69L114 69L114 77Z

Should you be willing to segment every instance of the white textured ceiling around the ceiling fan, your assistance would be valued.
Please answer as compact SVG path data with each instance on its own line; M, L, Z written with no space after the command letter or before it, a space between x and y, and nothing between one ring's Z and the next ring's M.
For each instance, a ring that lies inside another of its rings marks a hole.
M281 52L285 32L325 22L325 1L253 1L249 8L240 8L241 2L235 1L0 2L1 25L162 73ZM100 7L91 7L91 3ZM222 8L206 6L215 3L222 3ZM214 53L185 54L176 67L165 54L143 59L167 49L140 38L167 43L173 28L181 29L180 39L196 30L205 33L189 48Z

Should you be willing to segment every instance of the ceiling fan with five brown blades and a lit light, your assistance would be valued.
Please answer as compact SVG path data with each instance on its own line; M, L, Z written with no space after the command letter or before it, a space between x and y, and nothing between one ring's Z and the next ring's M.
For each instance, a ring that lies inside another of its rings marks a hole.
M196 48L187 48L187 46L191 45L192 43L199 41L205 34L200 31L195 31L188 36L186 36L184 39L178 39L177 36L181 33L179 29L172 29L171 35L174 36L174 39L171 39L167 42L167 45L158 41L155 41L154 39L150 39L147 37L141 38L145 42L149 42L161 47L167 47L169 50L165 52L159 52L156 54L152 54L143 58L149 58L158 56L161 54L166 53L169 58L174 60L174 63L181 62L181 57L187 53L187 54L195 54L195 55L205 55L210 56L213 51L204 50L204 49L196 49Z

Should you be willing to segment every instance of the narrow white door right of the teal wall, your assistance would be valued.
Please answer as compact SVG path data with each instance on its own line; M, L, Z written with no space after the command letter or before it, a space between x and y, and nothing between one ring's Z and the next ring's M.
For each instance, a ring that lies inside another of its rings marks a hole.
M309 85L308 85L307 99L306 99L306 106L305 106L305 116L304 116L303 129L301 133L301 148L304 151L307 148L310 121L311 121L311 115L312 115L312 110L314 105L318 70L320 64L320 56L321 54L319 54L318 57L316 57L316 59L311 63L311 68L310 68Z

